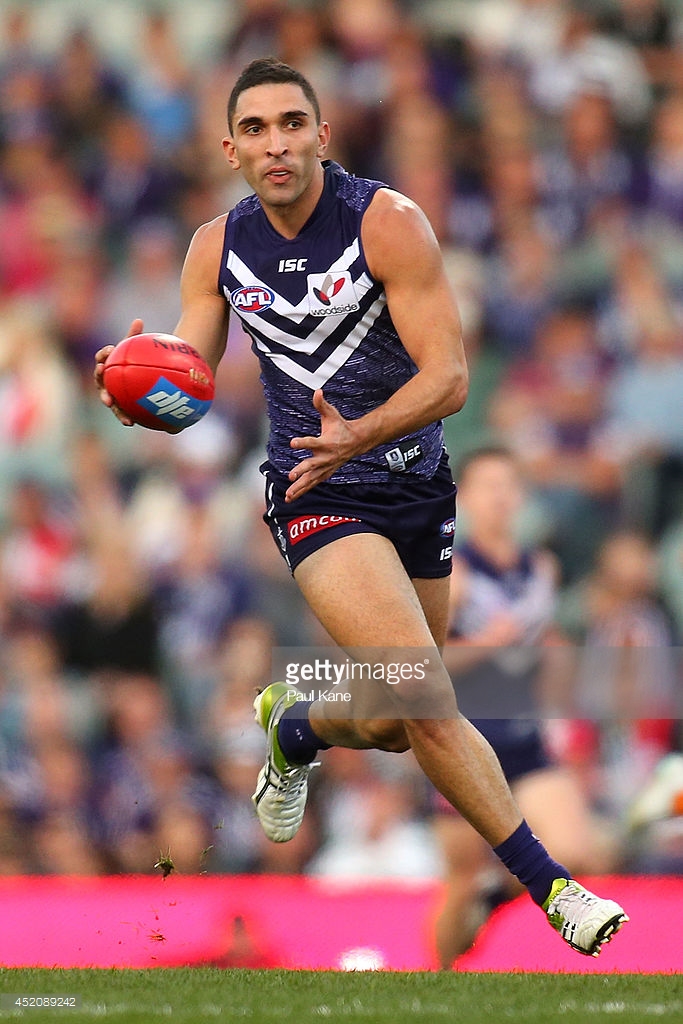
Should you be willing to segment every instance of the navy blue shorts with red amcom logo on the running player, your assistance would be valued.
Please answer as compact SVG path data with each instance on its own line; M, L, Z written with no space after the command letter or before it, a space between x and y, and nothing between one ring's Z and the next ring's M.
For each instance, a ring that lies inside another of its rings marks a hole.
M286 504L290 480L269 463L264 521L292 572L318 548L351 534L379 534L391 541L412 580L451 573L456 527L456 486L443 454L429 480L389 483L318 483Z

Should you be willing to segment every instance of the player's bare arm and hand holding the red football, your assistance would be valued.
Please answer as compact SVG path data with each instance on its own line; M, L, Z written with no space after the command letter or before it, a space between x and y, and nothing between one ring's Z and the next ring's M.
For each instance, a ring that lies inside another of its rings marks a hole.
M223 214L216 217L195 232L180 278L180 319L172 332L196 348L214 374L227 342L229 307L218 291L226 216ZM141 334L143 330L142 321L134 319L126 337ZM104 404L113 410L124 425L132 426L132 420L116 408L112 395L103 387L104 362L113 350L114 345L105 345L95 355L95 386Z

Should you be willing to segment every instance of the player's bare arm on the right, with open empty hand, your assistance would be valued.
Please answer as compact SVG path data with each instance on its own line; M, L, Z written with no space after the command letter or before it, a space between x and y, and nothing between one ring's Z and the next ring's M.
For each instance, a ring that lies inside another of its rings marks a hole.
M327 480L354 456L457 413L467 397L458 307L425 215L397 193L380 189L364 218L362 245L371 273L384 285L394 327L418 373L357 420L344 419L322 390L315 391L313 406L321 414L321 433L291 442L293 449L311 455L291 471L288 501Z

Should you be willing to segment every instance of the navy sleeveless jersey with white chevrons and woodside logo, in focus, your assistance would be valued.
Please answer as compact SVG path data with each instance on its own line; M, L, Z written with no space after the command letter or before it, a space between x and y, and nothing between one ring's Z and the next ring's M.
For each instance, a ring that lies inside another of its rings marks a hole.
M268 459L282 473L306 458L293 437L317 435L312 393L346 419L385 402L417 373L396 333L382 284L368 268L360 224L380 181L326 161L323 195L296 238L270 224L256 196L225 225L219 290L252 338L270 420ZM349 460L331 483L431 478L443 451L440 422Z

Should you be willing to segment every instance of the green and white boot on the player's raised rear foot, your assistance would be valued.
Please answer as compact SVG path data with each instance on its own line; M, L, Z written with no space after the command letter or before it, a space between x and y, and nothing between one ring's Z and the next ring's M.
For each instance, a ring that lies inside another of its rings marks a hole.
M265 731L268 755L258 773L252 802L263 831L273 843L287 843L301 827L313 765L292 765L278 740L283 713L297 702L298 690L288 683L271 683L254 700L256 721Z

